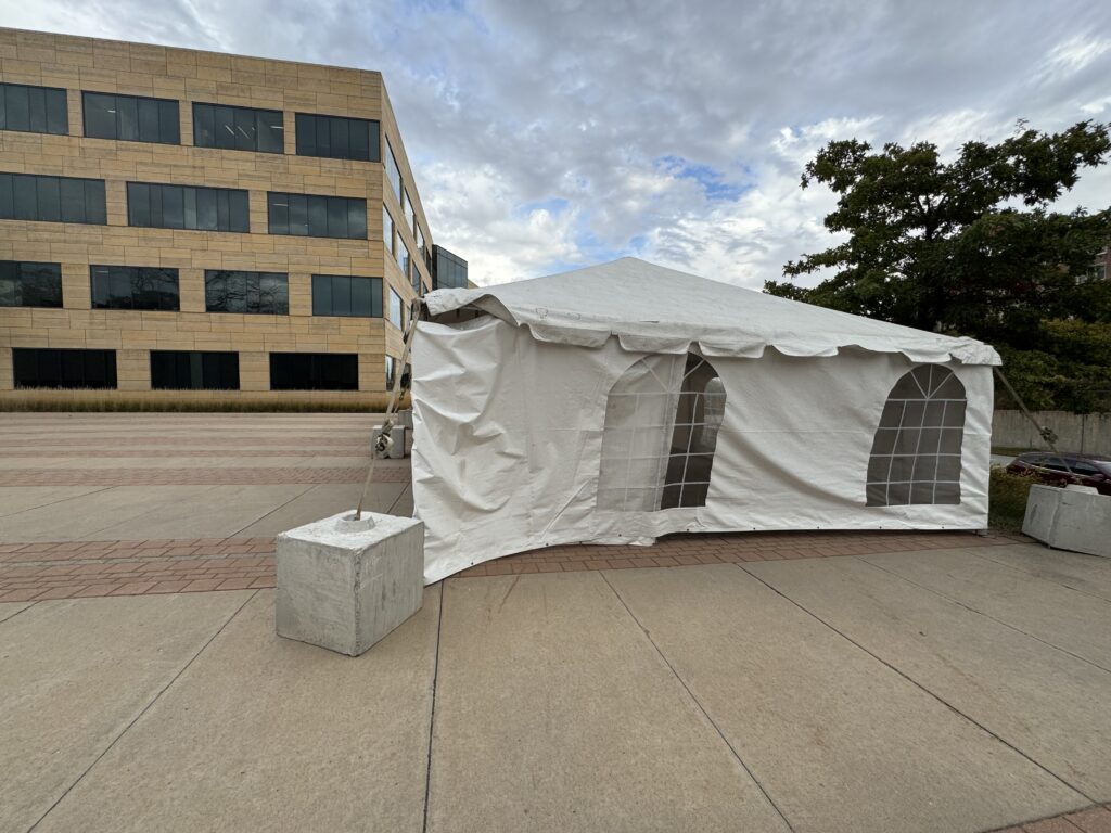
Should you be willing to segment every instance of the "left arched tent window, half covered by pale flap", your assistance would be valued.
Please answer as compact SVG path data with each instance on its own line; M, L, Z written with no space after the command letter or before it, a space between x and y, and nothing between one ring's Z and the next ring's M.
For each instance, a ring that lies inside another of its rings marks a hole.
M641 359L610 390L600 510L705 505L725 391L702 357L688 354L685 364L681 362L672 355Z

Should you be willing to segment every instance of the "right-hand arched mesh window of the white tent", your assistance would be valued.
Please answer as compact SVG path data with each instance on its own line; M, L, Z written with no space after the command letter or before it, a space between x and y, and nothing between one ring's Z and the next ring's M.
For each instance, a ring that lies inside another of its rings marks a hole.
M891 389L868 461L869 506L961 502L964 385L923 364Z

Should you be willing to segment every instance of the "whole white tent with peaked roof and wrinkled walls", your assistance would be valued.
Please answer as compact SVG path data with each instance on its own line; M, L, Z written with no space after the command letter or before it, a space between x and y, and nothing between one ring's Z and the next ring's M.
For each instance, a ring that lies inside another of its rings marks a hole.
M426 302L427 582L672 532L987 526L981 342L631 258Z

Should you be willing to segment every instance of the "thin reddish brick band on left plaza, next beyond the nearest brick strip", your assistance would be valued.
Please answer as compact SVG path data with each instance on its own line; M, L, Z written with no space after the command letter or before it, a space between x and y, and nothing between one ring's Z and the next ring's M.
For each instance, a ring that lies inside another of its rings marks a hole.
M190 469L6 469L0 486L60 485L252 485L256 483L361 483L366 466L240 469L232 466ZM408 466L374 466L378 483L406 483Z

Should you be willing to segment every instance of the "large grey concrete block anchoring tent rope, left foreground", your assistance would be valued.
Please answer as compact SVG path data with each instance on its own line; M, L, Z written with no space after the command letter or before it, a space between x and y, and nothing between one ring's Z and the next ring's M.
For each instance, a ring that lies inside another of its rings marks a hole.
M420 610L424 524L354 511L278 535L279 636L358 656Z

